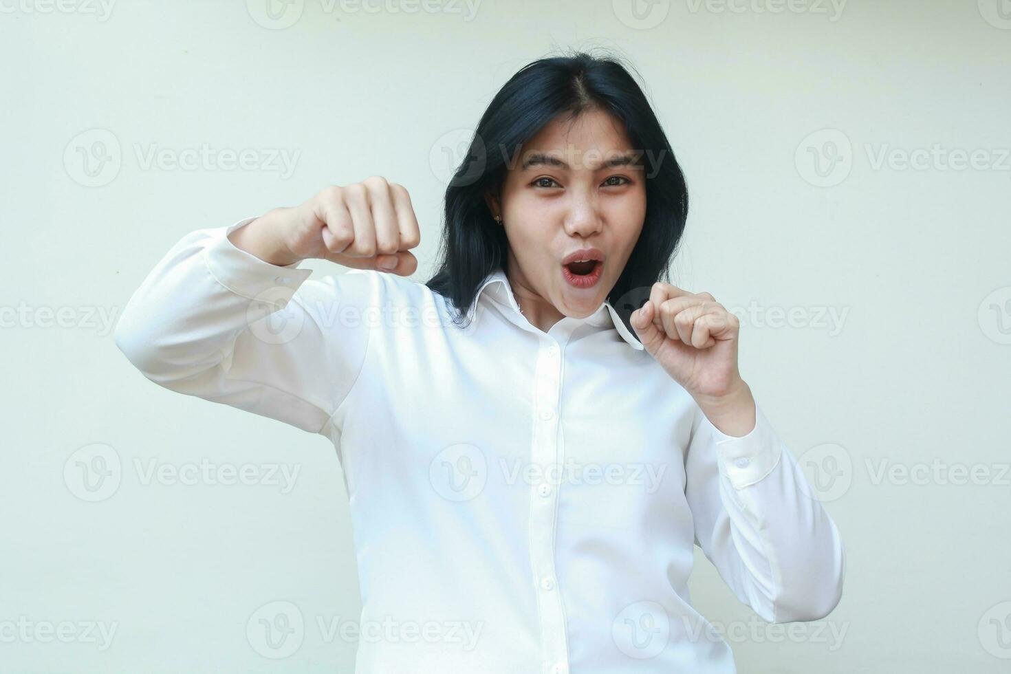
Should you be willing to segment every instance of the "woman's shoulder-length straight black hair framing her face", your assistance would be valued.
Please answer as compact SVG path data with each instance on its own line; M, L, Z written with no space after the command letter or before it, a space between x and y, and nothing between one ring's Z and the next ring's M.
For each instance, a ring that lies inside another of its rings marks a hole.
M452 301L454 322L464 321L481 280L504 270L509 240L484 196L501 192L508 149L521 148L560 114L574 119L591 109L624 124L633 149L646 161L645 221L608 295L630 331L630 316L649 298L650 286L668 280L687 217L687 187L646 96L615 57L576 52L545 58L522 68L495 94L446 188L438 271L426 285Z

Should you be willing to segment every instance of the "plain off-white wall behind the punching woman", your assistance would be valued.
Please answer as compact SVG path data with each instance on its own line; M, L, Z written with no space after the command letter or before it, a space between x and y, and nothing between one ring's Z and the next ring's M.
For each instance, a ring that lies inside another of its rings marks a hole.
M410 191L427 280L461 143L571 47L639 71L691 190L673 281L740 311L742 374L845 541L841 603L794 625L698 554L740 671L1006 671L1006 0L273 8L0 3L0 671L352 670L333 448L148 382L112 324L186 232L372 174ZM304 618L284 660L247 637L273 601Z

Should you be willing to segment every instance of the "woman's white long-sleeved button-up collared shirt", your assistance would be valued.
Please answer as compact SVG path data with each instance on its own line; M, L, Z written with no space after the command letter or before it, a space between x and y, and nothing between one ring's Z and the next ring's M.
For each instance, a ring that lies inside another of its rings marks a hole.
M422 283L256 258L227 238L253 219L184 236L115 340L161 386L333 442L382 637L356 672L734 672L695 545L764 620L839 601L839 533L762 409L718 430L610 303L544 332L499 270L464 328Z

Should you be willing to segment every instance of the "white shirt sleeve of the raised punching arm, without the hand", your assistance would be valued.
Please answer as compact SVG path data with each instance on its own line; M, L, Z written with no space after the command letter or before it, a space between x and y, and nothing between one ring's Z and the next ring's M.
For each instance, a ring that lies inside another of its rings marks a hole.
M381 284L260 260L227 237L253 219L183 236L129 298L115 343L160 386L319 432L361 376Z

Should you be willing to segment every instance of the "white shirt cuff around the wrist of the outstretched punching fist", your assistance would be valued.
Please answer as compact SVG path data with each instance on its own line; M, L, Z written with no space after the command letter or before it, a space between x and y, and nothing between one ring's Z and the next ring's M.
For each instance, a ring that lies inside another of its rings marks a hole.
M298 269L302 261L283 267L272 265L233 244L228 234L257 217L247 217L214 230L213 240L204 249L204 262L217 282L237 295L284 308L312 270Z

